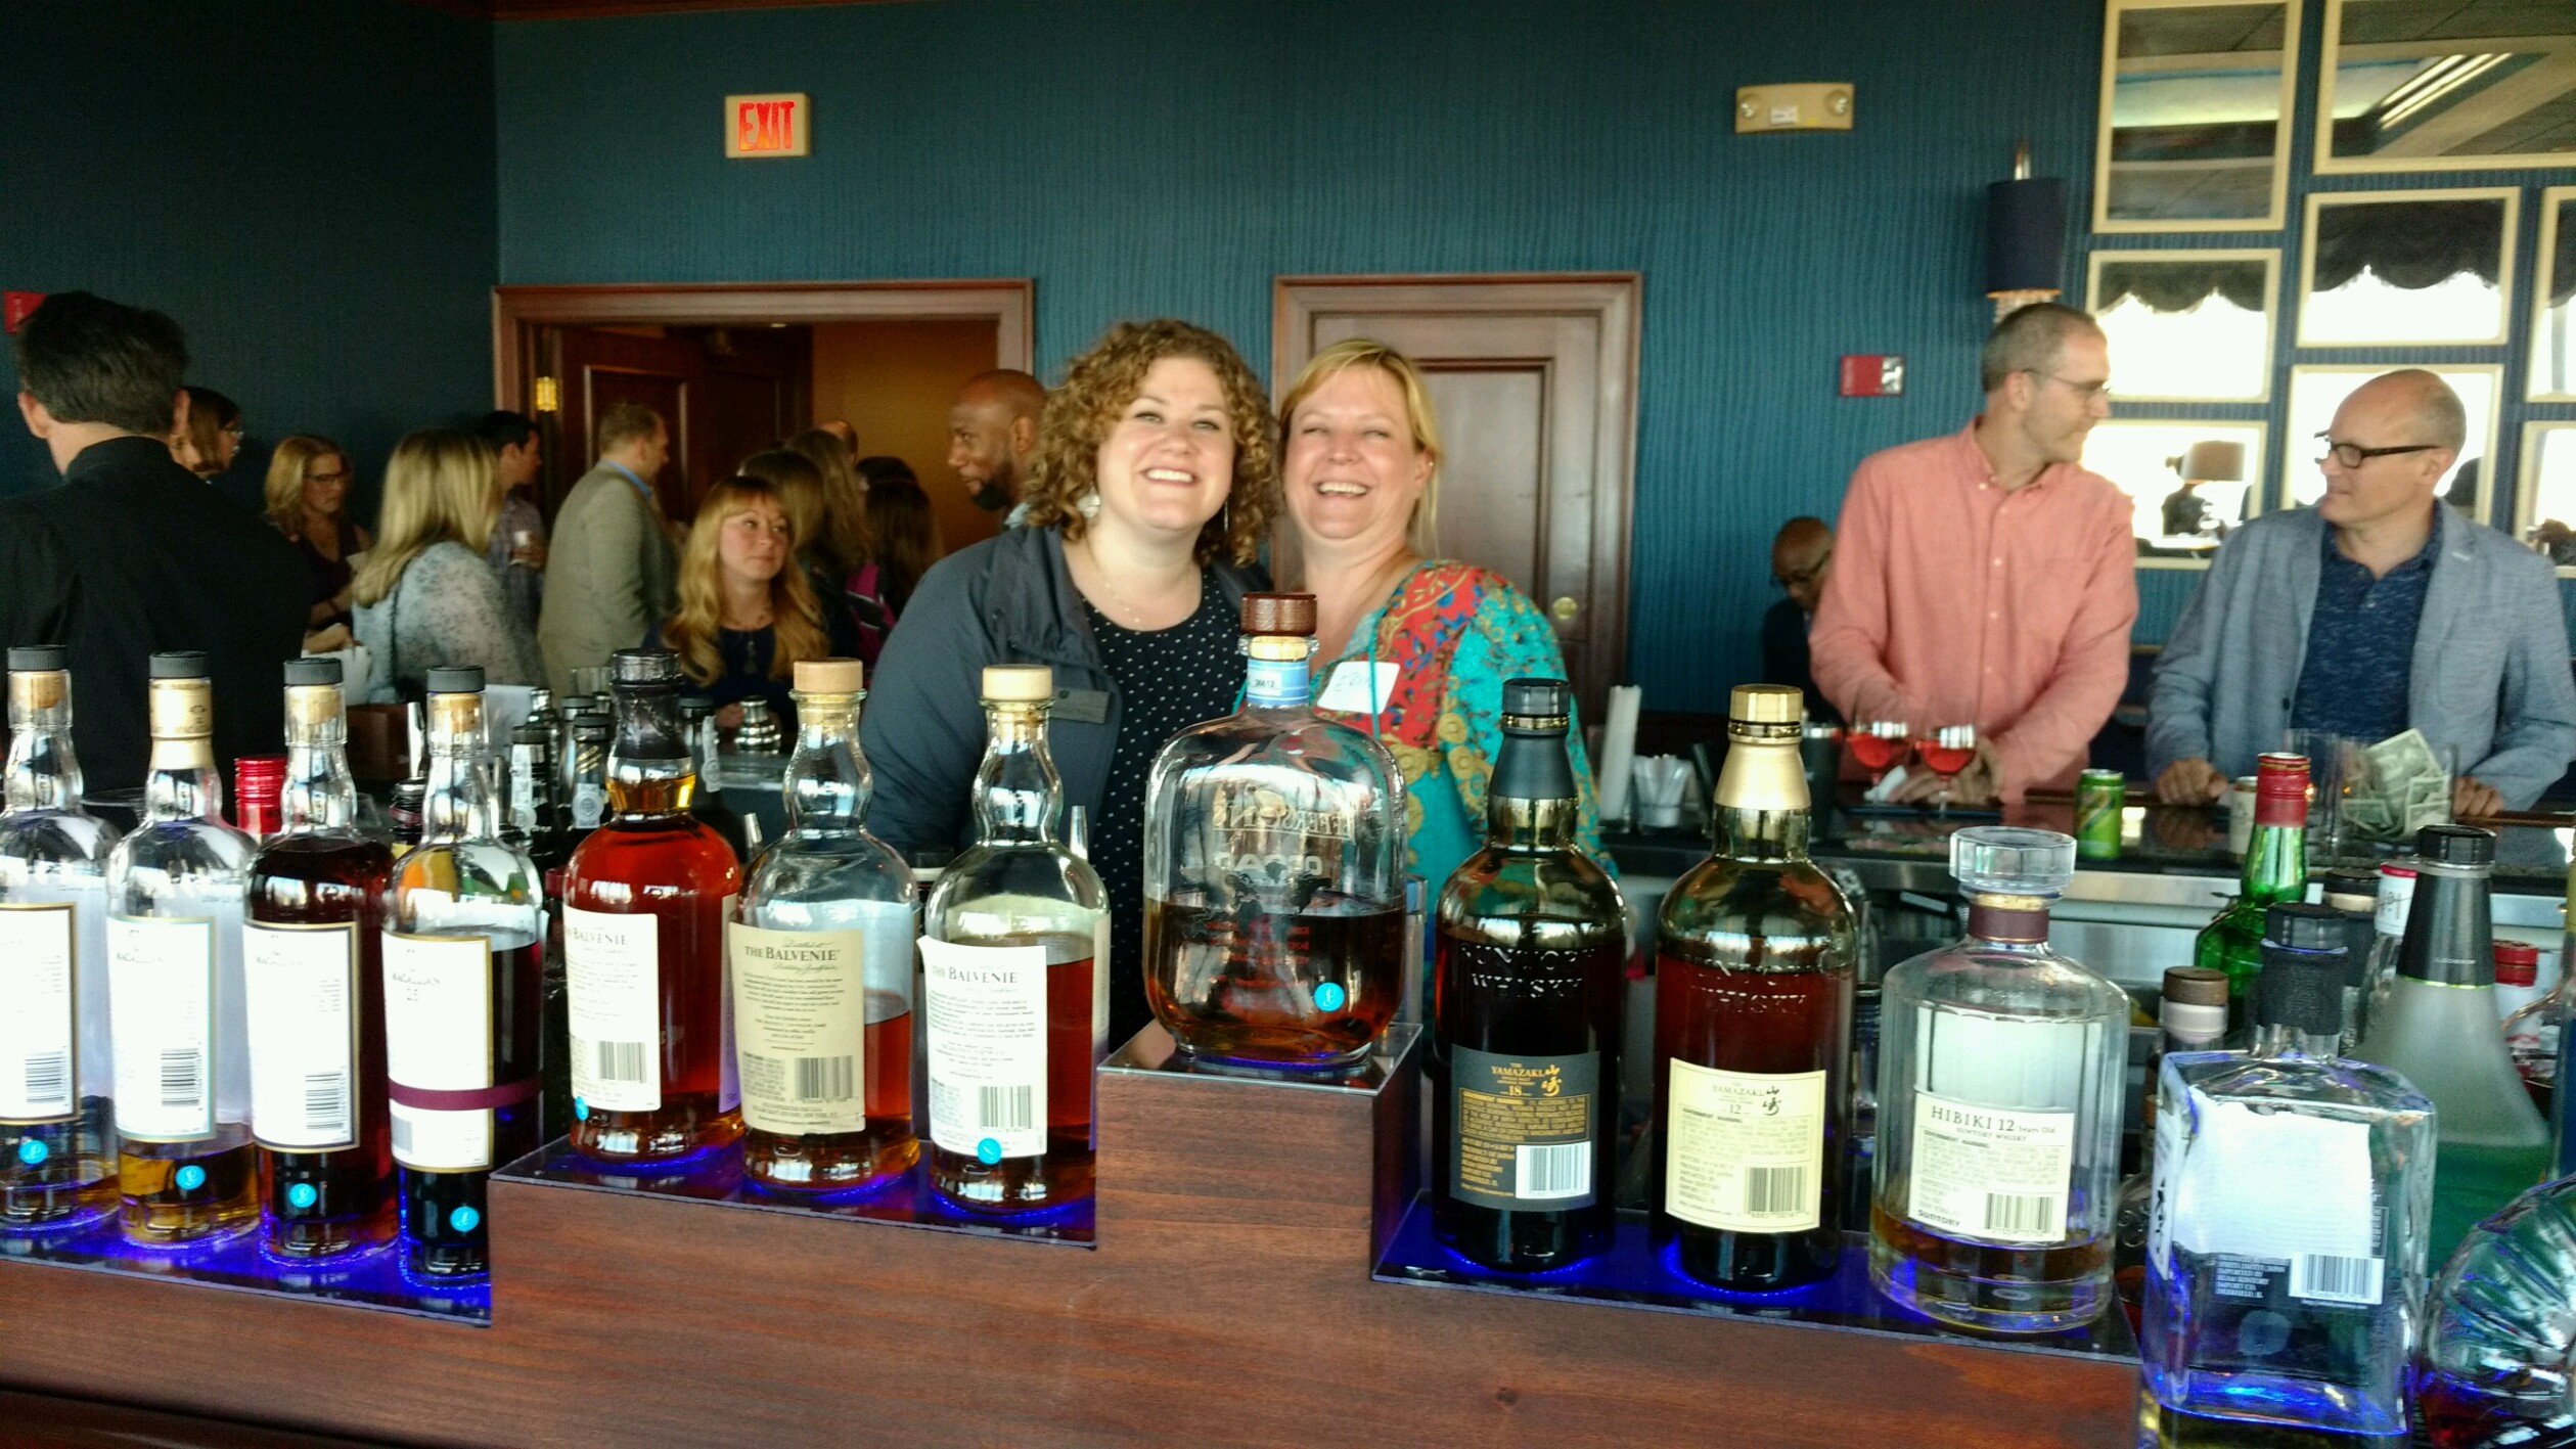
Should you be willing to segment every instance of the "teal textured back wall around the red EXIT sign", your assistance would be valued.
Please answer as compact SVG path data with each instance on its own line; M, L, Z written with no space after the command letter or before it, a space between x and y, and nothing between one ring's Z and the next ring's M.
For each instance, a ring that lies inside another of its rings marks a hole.
M953 0L500 26L505 283L1030 275L1041 371L1121 317L1270 355L1280 273L1638 270L1631 677L1723 708L1783 517L1960 427L1984 188L2087 196L2102 5ZM1857 131L1736 136L1847 80ZM721 98L814 154L721 160ZM2069 278L2076 263L2069 260ZM1834 396L1904 353L1904 399Z

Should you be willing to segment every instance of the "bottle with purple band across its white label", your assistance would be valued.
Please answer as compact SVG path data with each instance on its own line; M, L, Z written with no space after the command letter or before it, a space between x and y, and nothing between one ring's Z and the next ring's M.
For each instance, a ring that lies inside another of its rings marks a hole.
M500 836L482 687L482 669L430 669L420 849L394 867L384 906L404 1266L428 1279L489 1269L484 1184L541 1140L538 867Z

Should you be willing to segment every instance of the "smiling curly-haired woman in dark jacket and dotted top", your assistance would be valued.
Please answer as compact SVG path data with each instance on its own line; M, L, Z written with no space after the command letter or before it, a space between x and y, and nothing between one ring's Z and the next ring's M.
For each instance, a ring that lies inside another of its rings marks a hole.
M1110 1042L1144 1004L1144 777L1182 728L1234 710L1255 551L1278 515L1260 378L1188 322L1121 322L1046 399L1028 517L922 577L878 664L860 741L868 829L896 849L974 839L987 664L1048 664L1064 803L1090 816L1110 896ZM1061 829L1061 826L1059 826Z

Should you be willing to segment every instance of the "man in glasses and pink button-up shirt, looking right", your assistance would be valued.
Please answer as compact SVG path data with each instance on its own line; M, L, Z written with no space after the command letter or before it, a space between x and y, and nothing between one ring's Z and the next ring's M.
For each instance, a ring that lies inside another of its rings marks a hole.
M2076 466L2110 417L2094 319L2053 301L2014 311L1986 337L1978 378L1986 412L1965 430L1852 471L1808 651L1855 726L1976 726L1950 798L2017 803L2074 785L2120 703L2136 546L2128 497ZM1940 790L1922 772L1896 798Z

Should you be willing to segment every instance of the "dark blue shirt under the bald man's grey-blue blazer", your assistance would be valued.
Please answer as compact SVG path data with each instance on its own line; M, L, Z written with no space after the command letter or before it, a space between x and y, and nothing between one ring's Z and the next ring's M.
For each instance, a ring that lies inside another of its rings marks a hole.
M2442 556L2445 512L2450 510L2434 504L2424 548L2378 579L2362 564L2344 558L2334 546L2334 530L2326 530L2290 728L2321 728L2360 741L2380 741L2406 728L2414 636L2424 620L2432 561Z

